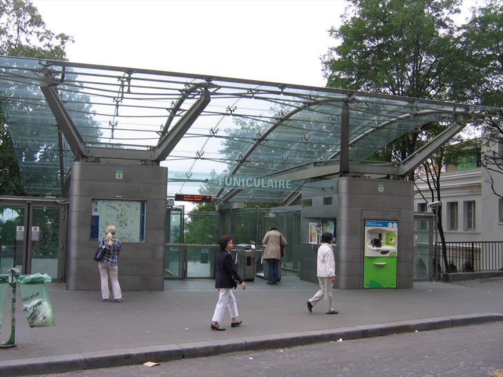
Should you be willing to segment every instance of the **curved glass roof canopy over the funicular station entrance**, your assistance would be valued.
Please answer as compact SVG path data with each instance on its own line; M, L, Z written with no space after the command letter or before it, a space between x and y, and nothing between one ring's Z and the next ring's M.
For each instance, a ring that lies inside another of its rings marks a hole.
M53 102L61 104L82 137L81 156L59 132L61 120L41 88L55 89ZM108 157L113 151L142 151L137 160L146 163L145 156L155 155L155 147L183 124L183 137L171 142L167 156L151 159L169 168L168 195L204 192L222 198L231 190L222 184L225 177L258 179L337 160L346 105L349 160L357 164L424 124L484 112L352 90L17 57L0 57L0 94L25 189L32 195L61 194L71 163L90 161L99 156L98 148ZM281 202L301 182L288 189L236 191L229 198Z

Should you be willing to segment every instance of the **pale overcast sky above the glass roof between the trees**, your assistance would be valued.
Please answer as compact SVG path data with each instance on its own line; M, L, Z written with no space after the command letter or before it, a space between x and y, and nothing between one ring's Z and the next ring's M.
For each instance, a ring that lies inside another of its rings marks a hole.
M325 86L336 1L35 0L70 61ZM70 5L71 4L71 5Z

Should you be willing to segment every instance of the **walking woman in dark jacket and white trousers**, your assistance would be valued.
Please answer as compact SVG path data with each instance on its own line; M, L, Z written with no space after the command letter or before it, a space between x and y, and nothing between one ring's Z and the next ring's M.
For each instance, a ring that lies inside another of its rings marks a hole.
M234 262L232 262L231 250L233 244L231 236L222 235L218 243L221 249L217 257L215 280L215 287L218 289L218 302L216 303L215 313L213 313L213 319L211 320L211 329L224 331L225 329L220 327L220 322L222 321L226 307L231 316L231 327L241 325L241 321L238 320L238 305L236 305L236 298L231 289L236 288L238 284L243 289L246 289L246 284L239 276L238 271L236 271Z

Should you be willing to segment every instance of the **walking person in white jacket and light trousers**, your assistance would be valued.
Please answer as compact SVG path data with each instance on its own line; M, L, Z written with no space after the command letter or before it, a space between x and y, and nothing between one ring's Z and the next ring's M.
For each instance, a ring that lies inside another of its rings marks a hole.
M332 240L334 235L332 233L323 233L321 235L323 244L318 248L318 260L316 263L318 282L320 289L314 296L307 300L307 310L312 313L312 307L316 305L321 298L325 298L326 314L338 314L339 311L332 308L332 287L335 282L335 256L334 249L332 249Z

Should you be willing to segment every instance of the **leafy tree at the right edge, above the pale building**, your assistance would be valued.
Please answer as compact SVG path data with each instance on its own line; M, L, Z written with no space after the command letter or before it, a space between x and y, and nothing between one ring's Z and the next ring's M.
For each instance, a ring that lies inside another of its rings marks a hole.
M482 166L486 182L495 195L503 198L503 3L489 1L473 8L468 23L459 28L456 46L462 53L457 62L457 80L452 97L459 101L491 106L494 117L480 124L484 140Z

